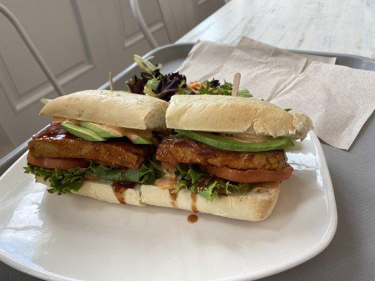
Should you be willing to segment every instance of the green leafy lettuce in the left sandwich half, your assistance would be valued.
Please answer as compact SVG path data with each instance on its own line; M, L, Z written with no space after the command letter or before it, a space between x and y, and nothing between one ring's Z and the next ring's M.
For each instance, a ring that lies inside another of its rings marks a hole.
M155 179L161 178L164 174L161 166L151 160L142 164L137 170L119 169L113 166L96 164L94 162L91 162L87 168L68 170L49 169L27 164L25 173L40 176L44 181L49 180L51 188L48 191L50 193L56 192L58 195L80 190L85 178L118 183L153 184Z

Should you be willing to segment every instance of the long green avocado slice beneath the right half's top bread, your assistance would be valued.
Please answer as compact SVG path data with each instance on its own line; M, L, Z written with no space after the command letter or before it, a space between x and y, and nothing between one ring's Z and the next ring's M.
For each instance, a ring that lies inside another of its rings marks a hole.
M212 148L219 148L229 151L258 152L267 150L279 150L294 145L292 139L286 136L272 138L261 143L244 143L242 141L236 141L231 138L217 136L212 133L201 131L185 131L177 129L175 129L174 131L179 133L179 135L191 138L193 141L198 141L199 143L210 145L212 146Z

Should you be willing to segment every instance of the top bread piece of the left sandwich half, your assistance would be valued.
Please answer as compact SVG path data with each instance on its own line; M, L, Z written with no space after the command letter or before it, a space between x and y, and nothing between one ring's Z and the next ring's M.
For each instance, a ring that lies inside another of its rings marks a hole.
M165 100L125 91L87 90L61 96L39 115L89 121L130 129L165 129Z

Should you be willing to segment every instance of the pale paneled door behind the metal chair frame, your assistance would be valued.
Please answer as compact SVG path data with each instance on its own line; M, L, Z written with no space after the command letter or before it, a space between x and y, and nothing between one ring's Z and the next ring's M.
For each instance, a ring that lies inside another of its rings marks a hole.
M96 89L108 71L132 63L149 46L127 0L1 0L23 23L66 93ZM160 44L170 43L158 1L141 1ZM56 97L11 23L0 14L0 157L49 122L41 98ZM125 84L124 84L125 89Z

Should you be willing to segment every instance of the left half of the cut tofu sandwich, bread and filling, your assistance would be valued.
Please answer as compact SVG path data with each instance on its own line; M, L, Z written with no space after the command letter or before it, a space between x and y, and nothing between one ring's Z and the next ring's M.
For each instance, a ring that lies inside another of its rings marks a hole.
M53 117L28 143L25 171L58 195L144 206L140 185L163 175L153 162L168 103L122 91L88 90L45 100Z

